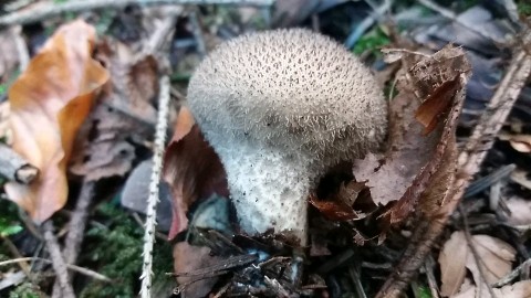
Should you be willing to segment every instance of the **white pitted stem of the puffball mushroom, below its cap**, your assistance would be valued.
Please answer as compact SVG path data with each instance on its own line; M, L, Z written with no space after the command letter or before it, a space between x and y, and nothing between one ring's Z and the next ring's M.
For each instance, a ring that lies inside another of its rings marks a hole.
M241 228L249 235L273 231L304 246L314 175L309 159L300 152L246 142L218 146L217 151Z

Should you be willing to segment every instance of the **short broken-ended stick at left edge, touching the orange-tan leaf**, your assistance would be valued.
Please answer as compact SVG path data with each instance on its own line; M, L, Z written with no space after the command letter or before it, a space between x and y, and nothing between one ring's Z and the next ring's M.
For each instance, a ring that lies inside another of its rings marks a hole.
M0 175L11 181L29 184L39 175L39 169L31 166L10 147L0 142Z

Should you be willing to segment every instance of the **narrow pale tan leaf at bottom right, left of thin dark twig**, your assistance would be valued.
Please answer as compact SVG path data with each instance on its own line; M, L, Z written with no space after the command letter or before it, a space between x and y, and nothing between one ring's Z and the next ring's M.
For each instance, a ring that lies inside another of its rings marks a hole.
M465 233L454 232L439 254L441 296L455 295L461 288L467 273L465 263L468 254L469 248Z

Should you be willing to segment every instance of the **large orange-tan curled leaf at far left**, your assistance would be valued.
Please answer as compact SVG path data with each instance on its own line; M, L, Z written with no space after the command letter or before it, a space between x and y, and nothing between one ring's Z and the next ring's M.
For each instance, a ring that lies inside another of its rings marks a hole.
M91 56L95 38L83 21L62 25L9 92L13 148L41 175L30 187L10 182L6 191L37 222L66 202L65 169L75 135L108 78Z

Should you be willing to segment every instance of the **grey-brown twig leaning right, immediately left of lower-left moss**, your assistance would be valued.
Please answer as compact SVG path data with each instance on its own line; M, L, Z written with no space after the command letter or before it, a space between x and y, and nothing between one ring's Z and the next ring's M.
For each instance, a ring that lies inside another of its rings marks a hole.
M63 257L66 264L75 264L77 255L80 254L81 243L83 242L83 235L85 232L86 220L88 217L88 206L94 198L94 181L84 181L81 188L80 196L75 204L74 213L71 216L69 223L69 233L64 241L65 246L63 249ZM53 286L52 297L61 296L61 286L59 278Z

